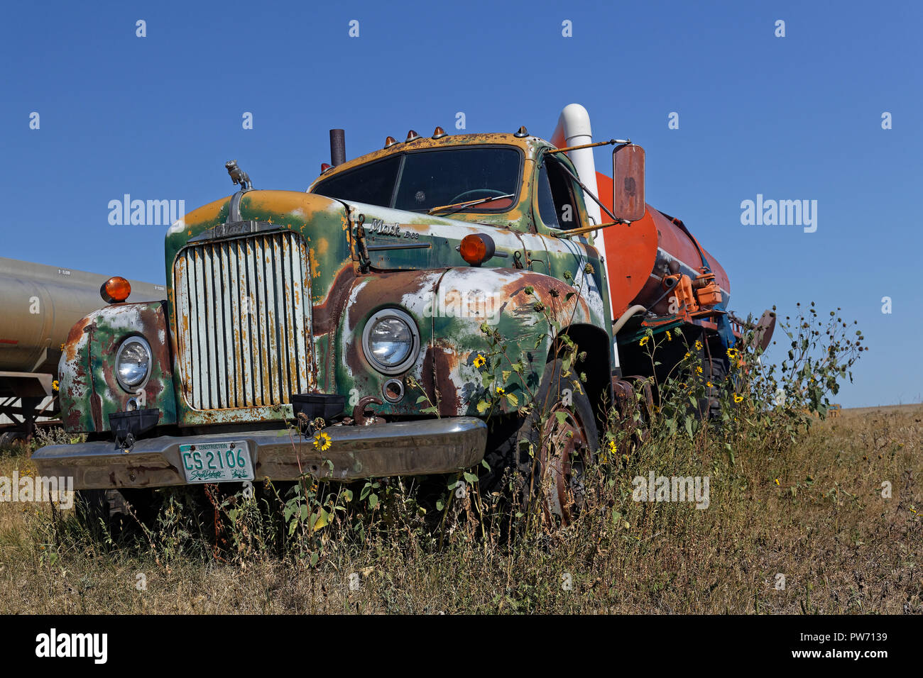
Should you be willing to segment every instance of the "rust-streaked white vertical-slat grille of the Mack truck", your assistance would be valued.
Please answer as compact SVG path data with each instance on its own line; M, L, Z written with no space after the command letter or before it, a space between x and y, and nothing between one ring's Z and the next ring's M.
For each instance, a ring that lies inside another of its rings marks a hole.
M309 387L311 274L295 233L186 247L174 291L186 401L197 410L289 402Z

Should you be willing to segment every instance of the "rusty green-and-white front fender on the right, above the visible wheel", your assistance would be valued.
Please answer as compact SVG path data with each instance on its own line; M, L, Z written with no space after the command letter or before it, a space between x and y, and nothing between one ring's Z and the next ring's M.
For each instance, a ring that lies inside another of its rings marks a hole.
M420 353L402 375L376 372L361 345L368 318L389 307L411 315L420 333ZM378 408L386 416L420 416L430 403L438 405L440 416L480 416L484 387L473 363L479 353L491 351L484 328L499 333L511 360L523 358L533 373L530 380L540 380L556 332L549 318L560 327L605 332L577 290L541 273L472 267L373 273L356 280L349 294L338 337L338 383L341 392L355 388L380 397L388 379L400 378L405 396ZM422 395L426 401L418 403Z

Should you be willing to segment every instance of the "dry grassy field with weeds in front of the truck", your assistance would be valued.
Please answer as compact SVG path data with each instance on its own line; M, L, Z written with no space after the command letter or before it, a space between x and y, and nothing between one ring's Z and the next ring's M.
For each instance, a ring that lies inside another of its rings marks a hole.
M358 514L362 538L343 520L301 554L259 522L221 549L170 516L112 544L3 503L0 613L923 613L921 421L923 405L844 410L781 452L677 437L610 460L568 529L512 539L470 502L422 529L398 490ZM30 461L7 449L14 470ZM709 506L633 501L650 471L710 476Z

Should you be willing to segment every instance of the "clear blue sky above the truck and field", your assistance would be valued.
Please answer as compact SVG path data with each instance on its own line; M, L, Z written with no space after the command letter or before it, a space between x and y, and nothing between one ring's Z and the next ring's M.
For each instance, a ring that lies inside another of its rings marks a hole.
M231 158L258 188L304 189L329 161L330 127L345 128L348 157L410 128L452 132L457 112L467 131L526 125L550 137L577 101L596 138L647 149L648 202L722 262L738 315L814 301L859 321L870 351L836 400L923 399L919 3L19 3L5 13L0 256L162 283L165 228L110 225L110 200L195 208L232 192ZM671 112L678 129L667 128ZM610 162L599 152L598 165ZM740 203L757 194L817 200L817 231L742 225Z

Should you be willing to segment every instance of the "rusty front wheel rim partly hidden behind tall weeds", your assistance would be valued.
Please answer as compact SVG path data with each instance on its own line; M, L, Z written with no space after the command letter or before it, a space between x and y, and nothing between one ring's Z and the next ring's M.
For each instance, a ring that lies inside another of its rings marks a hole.
M564 414L563 422L557 413ZM558 517L563 525L576 516L584 498L584 459L588 453L585 427L580 415L556 403L542 430L539 451L540 493L546 520Z

